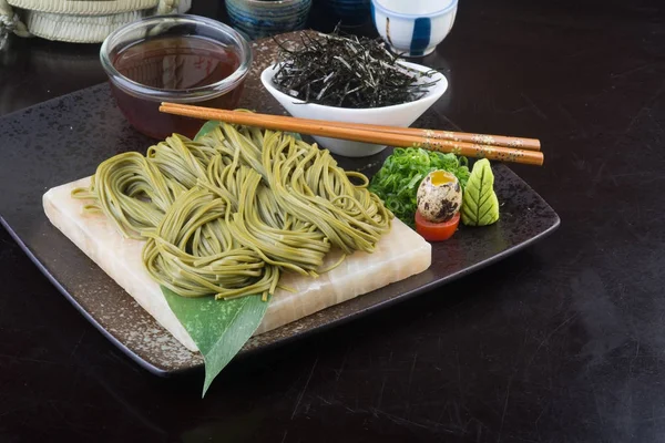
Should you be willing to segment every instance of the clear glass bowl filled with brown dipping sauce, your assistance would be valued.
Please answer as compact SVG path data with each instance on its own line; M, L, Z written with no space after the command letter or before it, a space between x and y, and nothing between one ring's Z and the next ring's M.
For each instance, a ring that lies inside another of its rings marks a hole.
M205 123L161 113L161 102L235 109L252 65L247 40L198 16L153 16L113 31L100 59L119 109L139 132L193 137Z

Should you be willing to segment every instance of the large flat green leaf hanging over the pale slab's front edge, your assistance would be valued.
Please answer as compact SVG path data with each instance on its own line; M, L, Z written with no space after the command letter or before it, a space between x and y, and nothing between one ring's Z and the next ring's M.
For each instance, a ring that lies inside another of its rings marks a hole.
M267 301L260 296L232 300L181 297L161 287L175 317L185 327L205 360L203 394L260 324Z

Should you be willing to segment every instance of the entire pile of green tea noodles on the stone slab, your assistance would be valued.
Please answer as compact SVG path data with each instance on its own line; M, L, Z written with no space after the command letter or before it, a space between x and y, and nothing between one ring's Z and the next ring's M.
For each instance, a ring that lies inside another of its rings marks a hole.
M392 214L367 185L293 135L222 123L196 142L174 134L146 156L109 158L72 195L145 240L147 271L174 292L267 299L285 270L329 270L331 247L342 250L339 262L375 250Z

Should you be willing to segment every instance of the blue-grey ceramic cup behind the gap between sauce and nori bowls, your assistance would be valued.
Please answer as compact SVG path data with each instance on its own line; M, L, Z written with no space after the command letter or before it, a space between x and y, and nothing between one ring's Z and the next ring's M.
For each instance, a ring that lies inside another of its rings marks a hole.
M311 0L226 0L231 24L250 39L305 28Z

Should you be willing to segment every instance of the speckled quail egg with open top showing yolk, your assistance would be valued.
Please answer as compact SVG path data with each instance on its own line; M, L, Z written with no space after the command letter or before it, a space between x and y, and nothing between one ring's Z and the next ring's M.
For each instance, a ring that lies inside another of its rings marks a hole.
M418 210L431 223L451 219L462 206L462 188L454 174L433 171L418 187Z

